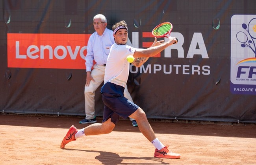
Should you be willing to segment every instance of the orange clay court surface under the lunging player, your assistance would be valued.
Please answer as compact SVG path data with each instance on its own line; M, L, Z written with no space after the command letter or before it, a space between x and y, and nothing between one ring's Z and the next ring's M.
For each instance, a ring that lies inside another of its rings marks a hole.
M71 125L86 126L78 123L80 119L0 115L0 164L256 164L255 124L150 121L157 137L181 154L180 159L160 159L153 157L154 146L129 120L120 120L110 134L80 138L60 149Z

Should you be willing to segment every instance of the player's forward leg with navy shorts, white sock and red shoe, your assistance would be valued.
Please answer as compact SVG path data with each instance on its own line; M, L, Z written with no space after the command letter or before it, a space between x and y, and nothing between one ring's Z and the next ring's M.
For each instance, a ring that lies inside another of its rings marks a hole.
M111 116L112 123L116 124L119 116L126 119L128 116L139 121L138 126L142 134L156 147L154 156L158 158L180 158L179 154L175 154L168 150L168 146L164 146L150 126L145 112L136 104L129 101L126 97L119 94L102 93L102 101L104 107L104 120ZM106 113L107 112L107 113ZM105 114L106 113L106 114Z

